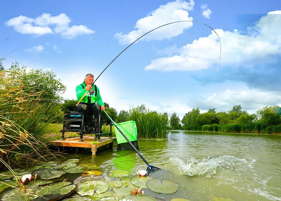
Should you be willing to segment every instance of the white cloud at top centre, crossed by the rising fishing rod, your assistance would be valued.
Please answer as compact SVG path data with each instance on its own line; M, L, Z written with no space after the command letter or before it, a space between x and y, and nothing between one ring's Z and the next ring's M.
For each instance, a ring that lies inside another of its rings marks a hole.
M193 18L188 16L189 13L187 11L192 10L193 6L193 0L190 0L190 2L182 0L168 2L166 5L161 5L159 8L152 11L147 17L139 19L136 22L136 30L127 34L116 33L114 36L119 39L121 44L128 44L158 26L176 21L192 21ZM143 40L168 39L173 36L178 36L191 26L192 22L181 22L164 26L144 36Z

